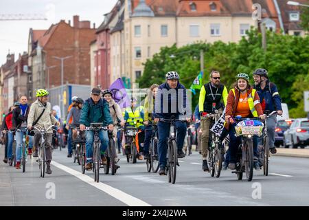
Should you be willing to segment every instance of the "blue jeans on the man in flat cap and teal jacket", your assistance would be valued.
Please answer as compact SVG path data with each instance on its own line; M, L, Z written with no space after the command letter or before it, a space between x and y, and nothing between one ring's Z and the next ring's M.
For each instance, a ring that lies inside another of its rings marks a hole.
M98 136L101 140L101 155L103 155L106 151L106 148L108 146L108 135L107 131L99 131ZM87 131L86 132L86 157L87 157L87 163L93 162L92 157L93 157L93 146L94 142L94 132L93 131Z

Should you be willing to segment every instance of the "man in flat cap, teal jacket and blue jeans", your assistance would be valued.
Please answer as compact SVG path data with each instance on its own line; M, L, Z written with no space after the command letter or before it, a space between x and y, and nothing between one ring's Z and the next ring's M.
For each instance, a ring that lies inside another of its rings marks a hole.
M101 98L101 89L93 88L91 90L91 97L84 101L82 111L80 113L80 131L84 131L86 126L90 126L92 122L101 122L102 126L108 124L108 129L113 131L113 118L111 118L111 113L109 112L108 103L106 100ZM93 131L86 132L86 156L87 164L85 166L86 170L92 169L93 162L93 150L92 145L94 141ZM101 140L101 159L102 164L107 164L107 159L104 155L106 148L108 146L108 135L107 131L100 131L99 138Z

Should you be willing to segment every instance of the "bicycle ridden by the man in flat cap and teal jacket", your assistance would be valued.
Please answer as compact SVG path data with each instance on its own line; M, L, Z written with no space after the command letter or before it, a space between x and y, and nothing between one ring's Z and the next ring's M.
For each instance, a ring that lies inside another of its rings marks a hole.
M101 162L101 141L99 138L100 131L106 131L107 127L102 126L100 123L90 123L90 126L86 127L86 130L94 132L94 142L93 142L93 179L96 182L99 182L100 175L100 162Z

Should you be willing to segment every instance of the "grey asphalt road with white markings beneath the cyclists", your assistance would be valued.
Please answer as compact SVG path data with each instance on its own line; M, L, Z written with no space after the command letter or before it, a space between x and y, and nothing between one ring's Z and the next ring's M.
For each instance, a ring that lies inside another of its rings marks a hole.
M239 181L231 170L220 178L201 169L201 155L179 159L176 184L167 176L147 173L146 162L128 164L121 158L116 175L92 171L80 173L80 166L67 158L67 148L53 153L52 175L39 177L35 159L26 173L2 162L0 147L0 206L308 206L309 159L271 157L268 177L255 171L253 181ZM51 191L52 190L52 191Z

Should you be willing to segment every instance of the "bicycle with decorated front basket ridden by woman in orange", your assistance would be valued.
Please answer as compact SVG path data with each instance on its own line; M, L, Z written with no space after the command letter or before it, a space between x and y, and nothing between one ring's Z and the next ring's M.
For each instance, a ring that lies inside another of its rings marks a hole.
M262 125L255 126L255 120L260 118L241 118L236 116L236 122L244 122L235 127L236 136L241 136L242 141L238 146L238 155L236 162L236 173L238 180L242 179L242 174L246 173L247 181L253 179L253 135L262 135ZM260 122L260 121L258 121Z

